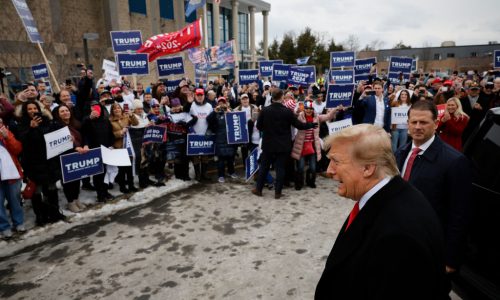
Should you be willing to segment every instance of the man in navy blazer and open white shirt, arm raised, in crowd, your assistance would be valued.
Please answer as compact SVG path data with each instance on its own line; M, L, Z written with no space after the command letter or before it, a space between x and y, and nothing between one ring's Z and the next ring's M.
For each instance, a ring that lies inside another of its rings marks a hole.
M384 97L384 87L381 82L373 84L375 95L366 95L366 91L361 94L355 103L356 107L363 111L362 123L373 124L391 130L391 107L389 98Z

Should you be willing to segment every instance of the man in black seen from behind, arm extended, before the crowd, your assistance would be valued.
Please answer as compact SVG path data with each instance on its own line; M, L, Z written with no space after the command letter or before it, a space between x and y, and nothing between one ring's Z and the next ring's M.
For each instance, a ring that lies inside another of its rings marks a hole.
M281 198L281 190L285 178L285 160L292 151L292 129L310 129L318 127L317 123L302 123L283 102L283 91L275 89L273 103L265 107L257 119L257 129L262 132L262 154L260 155L257 186L252 193L262 196L262 188L271 164L276 170L274 198Z

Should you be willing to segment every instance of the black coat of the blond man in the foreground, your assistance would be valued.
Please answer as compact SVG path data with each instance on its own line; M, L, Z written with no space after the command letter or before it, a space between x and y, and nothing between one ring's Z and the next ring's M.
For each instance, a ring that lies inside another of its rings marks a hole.
M423 195L394 177L333 245L315 299L448 299L444 241Z

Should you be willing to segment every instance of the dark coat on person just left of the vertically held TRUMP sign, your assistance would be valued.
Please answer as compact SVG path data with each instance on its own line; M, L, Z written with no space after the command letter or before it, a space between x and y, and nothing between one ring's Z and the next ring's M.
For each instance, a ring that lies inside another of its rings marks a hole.
M226 114L216 107L207 117L208 128L215 133L215 155L234 156L235 147L227 143Z

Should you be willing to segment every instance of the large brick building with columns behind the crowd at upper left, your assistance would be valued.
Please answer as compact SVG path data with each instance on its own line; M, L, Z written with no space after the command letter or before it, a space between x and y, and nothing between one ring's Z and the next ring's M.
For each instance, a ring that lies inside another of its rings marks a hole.
M59 82L77 77L78 64L92 65L96 76L101 76L102 60L114 60L110 31L140 30L145 41L206 15L204 31L208 30L208 34L204 32L204 36L208 46L235 39L236 53L248 54L251 61L256 61L255 13L261 12L264 45L268 44L267 17L271 5L260 0L210 0L206 11L199 9L188 18L184 0L27 0L27 4ZM43 63L43 59L36 45L29 42L11 0L0 0L0 7L0 67L11 74L7 76L9 86L16 87L33 79L31 66ZM267 47L264 54L267 56ZM189 60L185 59L185 65L187 75L193 78L194 68ZM138 76L138 80L156 80L156 64L150 64L149 76Z

